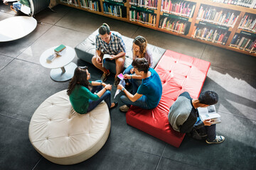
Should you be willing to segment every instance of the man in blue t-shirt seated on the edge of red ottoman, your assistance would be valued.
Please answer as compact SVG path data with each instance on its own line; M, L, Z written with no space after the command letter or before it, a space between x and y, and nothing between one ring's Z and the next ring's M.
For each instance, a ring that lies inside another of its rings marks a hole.
M134 72L142 77L142 84L136 91L133 91L133 94L130 94L127 89L124 89L122 84L117 86L117 89L124 91L126 95L121 96L121 101L125 105L119 108L120 111L128 111L131 105L144 109L156 108L162 94L159 74L154 69L149 68L149 62L145 58L134 59L132 66L134 67Z

